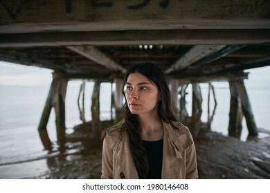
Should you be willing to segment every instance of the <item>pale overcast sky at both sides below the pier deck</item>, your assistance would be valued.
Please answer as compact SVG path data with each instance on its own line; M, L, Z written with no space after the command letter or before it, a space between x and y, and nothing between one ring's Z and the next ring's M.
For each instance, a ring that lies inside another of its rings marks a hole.
M53 70L0 61L0 85L49 85ZM248 88L270 88L270 66L246 70Z

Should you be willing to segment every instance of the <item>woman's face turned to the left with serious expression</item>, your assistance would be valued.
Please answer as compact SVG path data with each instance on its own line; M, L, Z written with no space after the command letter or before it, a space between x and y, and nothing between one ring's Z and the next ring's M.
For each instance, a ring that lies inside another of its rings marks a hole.
M132 114L156 114L159 90L143 74L138 72L129 74L125 85L125 97Z

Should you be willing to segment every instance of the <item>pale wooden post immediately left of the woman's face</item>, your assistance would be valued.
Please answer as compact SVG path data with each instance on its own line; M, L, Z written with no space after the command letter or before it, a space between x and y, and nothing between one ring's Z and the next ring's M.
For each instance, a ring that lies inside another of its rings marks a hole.
M123 119L123 93L122 93L122 80L114 79L116 85L114 90L114 107L116 109L116 117L114 123Z

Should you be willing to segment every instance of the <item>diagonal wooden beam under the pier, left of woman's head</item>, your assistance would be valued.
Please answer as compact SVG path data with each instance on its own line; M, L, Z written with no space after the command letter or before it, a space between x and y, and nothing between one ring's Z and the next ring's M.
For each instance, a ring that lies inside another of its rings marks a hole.
M69 50L77 52L78 54L81 54L87 59L91 59L92 61L95 61L100 65L104 65L109 70L120 71L124 73L127 71L125 70L125 68L107 57L104 53L100 52L100 50L98 50L94 46L67 46L66 48L69 48Z

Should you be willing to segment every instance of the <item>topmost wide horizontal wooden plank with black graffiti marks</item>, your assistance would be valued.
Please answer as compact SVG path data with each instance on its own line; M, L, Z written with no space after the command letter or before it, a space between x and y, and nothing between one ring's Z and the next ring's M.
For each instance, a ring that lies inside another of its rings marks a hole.
M270 2L0 1L1 32L269 28Z

